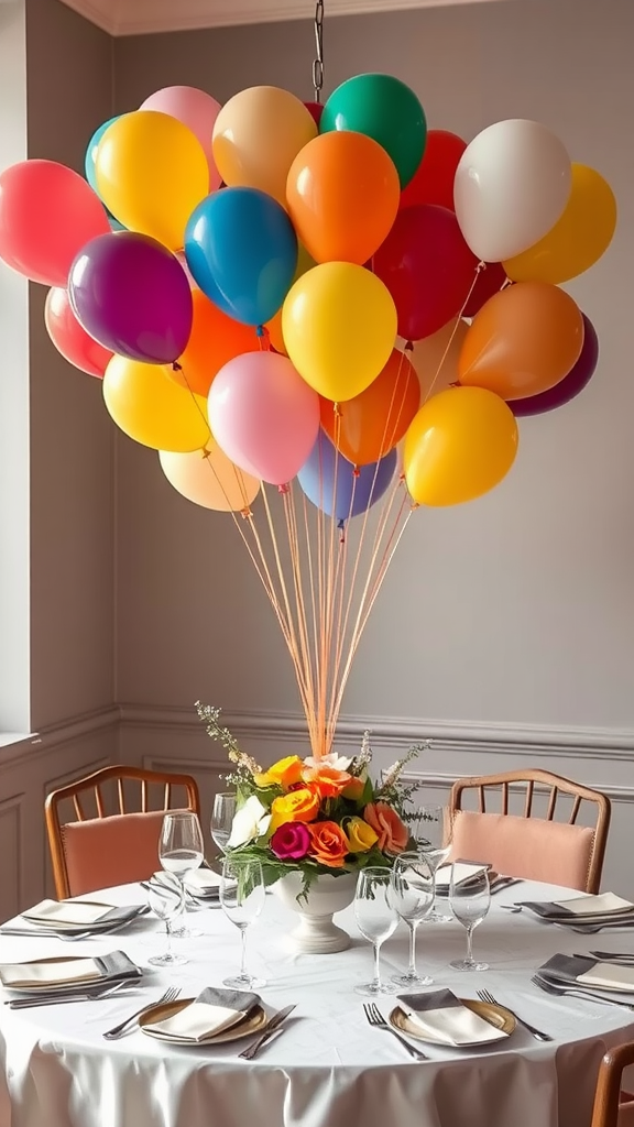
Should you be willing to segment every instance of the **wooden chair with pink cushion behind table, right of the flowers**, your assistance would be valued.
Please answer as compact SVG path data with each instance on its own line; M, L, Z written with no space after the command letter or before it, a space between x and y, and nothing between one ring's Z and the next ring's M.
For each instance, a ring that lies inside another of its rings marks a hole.
M518 788L525 791L519 816L509 810ZM494 789L501 790L500 813L486 808L486 793ZM465 809L468 791L477 793L476 811ZM543 798L546 813L538 817L534 807ZM567 822L555 820L557 808L566 801L571 806ZM576 825L582 802L596 807L593 826ZM510 877L599 891L610 801L598 790L530 767L460 779L451 788L449 818L451 855L456 859L488 861L496 872Z

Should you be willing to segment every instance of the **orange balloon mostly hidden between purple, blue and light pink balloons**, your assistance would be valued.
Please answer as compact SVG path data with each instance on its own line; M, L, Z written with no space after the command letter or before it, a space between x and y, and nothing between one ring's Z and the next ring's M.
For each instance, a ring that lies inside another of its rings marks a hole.
M259 337L252 325L227 317L202 290L192 291L194 320L179 369L166 369L173 380L196 396L208 396L214 375L235 356L259 352Z

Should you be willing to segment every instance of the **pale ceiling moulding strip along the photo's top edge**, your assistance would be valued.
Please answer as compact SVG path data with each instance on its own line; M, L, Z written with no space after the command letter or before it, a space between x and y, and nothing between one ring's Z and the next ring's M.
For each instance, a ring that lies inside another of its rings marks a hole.
M1 0L0 0L1 2ZM268 24L311 19L315 0L62 0L111 35L184 32L238 24ZM326 0L326 15L353 16L371 11L446 7L486 0Z

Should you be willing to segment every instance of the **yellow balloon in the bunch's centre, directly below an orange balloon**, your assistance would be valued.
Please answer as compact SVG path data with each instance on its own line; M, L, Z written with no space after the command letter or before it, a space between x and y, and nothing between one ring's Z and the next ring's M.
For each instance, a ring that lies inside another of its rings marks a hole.
M290 360L334 402L361 394L387 364L396 307L384 283L354 263L322 263L300 277L282 307Z

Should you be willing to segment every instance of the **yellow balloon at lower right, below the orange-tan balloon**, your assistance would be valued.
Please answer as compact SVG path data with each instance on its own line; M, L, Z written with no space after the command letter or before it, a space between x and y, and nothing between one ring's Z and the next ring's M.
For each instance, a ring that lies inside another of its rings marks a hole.
M505 477L517 449L518 425L503 399L484 388L449 388L410 424L407 488L419 505L475 500Z

